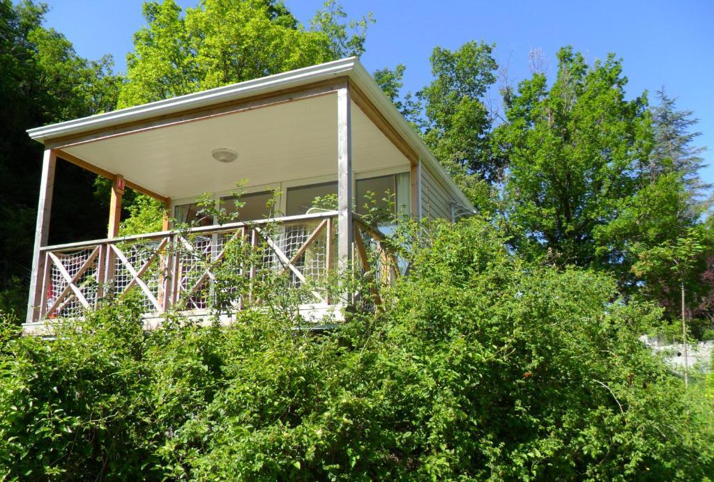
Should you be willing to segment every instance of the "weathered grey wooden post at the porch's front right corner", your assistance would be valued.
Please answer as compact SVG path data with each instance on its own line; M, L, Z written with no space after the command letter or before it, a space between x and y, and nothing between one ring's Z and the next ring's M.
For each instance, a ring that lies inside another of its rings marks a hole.
M349 86L337 90L337 256L346 272L352 257L352 132Z

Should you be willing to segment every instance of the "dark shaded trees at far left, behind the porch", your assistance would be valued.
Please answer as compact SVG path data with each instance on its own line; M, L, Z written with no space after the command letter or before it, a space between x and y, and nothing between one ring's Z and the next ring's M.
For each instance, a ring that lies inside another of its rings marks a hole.
M111 58L78 56L67 39L42 26L47 7L0 0L0 309L25 309L32 260L41 145L28 128L114 108L119 80ZM101 237L106 211L92 195L94 175L60 163L51 242ZM86 222L68 222L82 213Z

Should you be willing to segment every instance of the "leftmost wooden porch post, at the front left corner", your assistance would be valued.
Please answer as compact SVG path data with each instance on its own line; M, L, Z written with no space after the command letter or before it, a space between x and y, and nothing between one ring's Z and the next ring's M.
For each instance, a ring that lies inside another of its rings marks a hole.
M49 218L52 210L52 192L54 190L54 171L57 165L57 155L54 150L44 151L42 158L42 175L40 194L37 202L37 223L35 226L35 244L32 251L32 271L30 275L30 292L27 299L28 323L39 320L39 304L42 300L41 287L37 281L40 273L45 272L45 256L40 255L40 248L47 245L49 239Z

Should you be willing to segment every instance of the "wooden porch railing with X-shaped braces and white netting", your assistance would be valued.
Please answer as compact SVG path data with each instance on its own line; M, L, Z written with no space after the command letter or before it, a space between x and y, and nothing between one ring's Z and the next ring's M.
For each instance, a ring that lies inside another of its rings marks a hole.
M226 259L226 247L236 238L260 247L258 259L231 267L236 275L254 280L271 270L294 287L313 287L306 302L329 304L328 290L318 286L327 284L337 265L336 217L335 211L320 212L44 247L35 321L81 317L101 299L129 293L147 315L172 309L206 310L215 273ZM353 230L355 269L373 280L391 282L398 270L383 249L381 234L360 220ZM378 304L378 290L372 291ZM238 308L242 296L236 299Z

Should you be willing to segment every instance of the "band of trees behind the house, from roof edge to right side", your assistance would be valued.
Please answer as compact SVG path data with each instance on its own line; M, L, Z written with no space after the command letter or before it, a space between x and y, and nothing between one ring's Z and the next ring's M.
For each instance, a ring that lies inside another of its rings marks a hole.
M679 111L663 90L656 106L645 94L625 101L627 79L614 55L590 66L561 49L552 85L533 68L518 90L502 89L506 118L487 108L493 45L435 48L431 65L435 80L418 101L401 94L403 64L373 75L518 255L605 270L621 294L654 299L668 318L678 317L676 277L645 276L635 264L691 229L710 236L702 222L710 186L699 175L704 148L693 144L693 113ZM685 282L700 334L714 319L705 271L712 248L704 248Z

